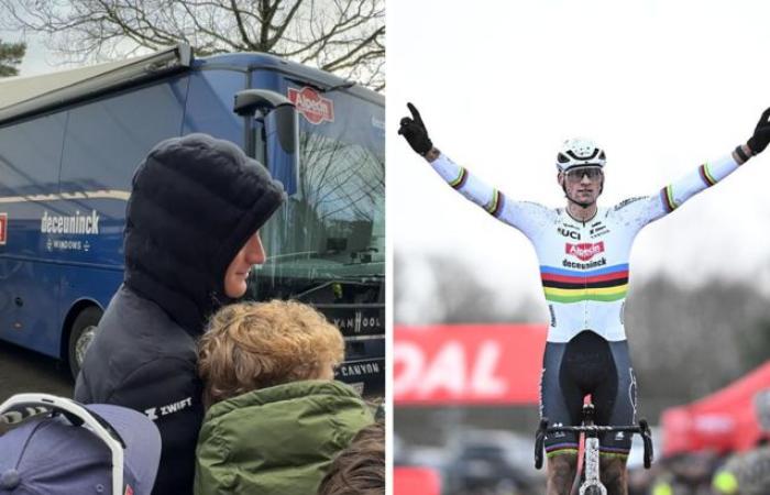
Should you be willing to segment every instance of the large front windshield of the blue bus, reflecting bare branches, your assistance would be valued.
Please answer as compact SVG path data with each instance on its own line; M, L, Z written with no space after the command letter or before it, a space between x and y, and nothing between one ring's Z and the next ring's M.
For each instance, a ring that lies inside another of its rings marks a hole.
M377 302L385 271L384 108L343 91L315 97L333 112L308 117L297 105L300 166L283 178L286 205L260 231L267 261L252 271L249 296Z

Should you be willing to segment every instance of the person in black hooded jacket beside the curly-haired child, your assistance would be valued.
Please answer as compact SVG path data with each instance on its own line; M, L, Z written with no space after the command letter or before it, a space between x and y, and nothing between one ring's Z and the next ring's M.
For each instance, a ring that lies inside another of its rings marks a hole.
M99 322L75 398L146 414L163 450L153 495L193 493L204 418L196 341L208 317L243 296L264 262L258 229L280 183L234 144L205 134L155 145L133 177L123 284Z

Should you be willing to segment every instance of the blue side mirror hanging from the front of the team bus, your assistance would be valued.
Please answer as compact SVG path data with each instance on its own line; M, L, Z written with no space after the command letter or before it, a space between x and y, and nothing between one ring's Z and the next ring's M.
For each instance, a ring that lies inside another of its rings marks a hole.
M246 125L246 153L256 157L256 136L252 121L264 124L265 166L273 178L280 180L289 196L297 191L299 170L299 131L297 109L283 95L267 89L246 89L235 94L233 111L244 117Z

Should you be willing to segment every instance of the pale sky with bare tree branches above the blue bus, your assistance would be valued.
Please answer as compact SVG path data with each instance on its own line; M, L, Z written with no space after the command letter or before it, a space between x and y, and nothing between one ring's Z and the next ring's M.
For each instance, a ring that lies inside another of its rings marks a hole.
M189 43L264 52L385 87L385 0L0 0L0 25L44 33L69 62Z

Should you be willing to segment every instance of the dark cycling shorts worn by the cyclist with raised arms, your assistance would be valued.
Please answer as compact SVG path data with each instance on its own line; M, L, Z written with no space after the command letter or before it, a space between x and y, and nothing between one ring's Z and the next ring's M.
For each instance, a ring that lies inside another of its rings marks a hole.
M566 343L548 342L540 377L540 417L549 426L578 426L583 399L591 394L596 425L636 424L636 377L625 340L608 342L591 330L583 330ZM628 454L631 435L608 432L600 436L601 452ZM575 451L578 435L546 436L546 453Z

